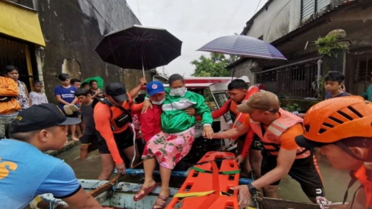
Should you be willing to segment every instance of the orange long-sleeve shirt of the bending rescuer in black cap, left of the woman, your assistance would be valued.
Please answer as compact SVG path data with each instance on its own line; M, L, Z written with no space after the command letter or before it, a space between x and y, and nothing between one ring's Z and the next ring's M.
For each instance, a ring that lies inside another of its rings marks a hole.
M128 104L124 102L122 107L126 107ZM131 111L133 112L139 112L141 111L143 107L143 103L138 104L138 105L132 105L130 107ZM113 117L115 117L113 113ZM97 103L97 105L94 107L93 110L93 118L94 118L94 123L96 123L96 129L97 131L101 134L103 139L105 139L107 147L109 148L109 151L111 153L111 156L113 160L115 161L115 164L121 164L123 163L123 159L120 157L120 152L118 150L118 147L116 146L115 138L114 138L114 133L121 133L125 131L128 128L128 125L125 125L119 130L112 131L111 126L110 126L110 119L111 119L111 110L110 107L106 104L103 104L101 102Z

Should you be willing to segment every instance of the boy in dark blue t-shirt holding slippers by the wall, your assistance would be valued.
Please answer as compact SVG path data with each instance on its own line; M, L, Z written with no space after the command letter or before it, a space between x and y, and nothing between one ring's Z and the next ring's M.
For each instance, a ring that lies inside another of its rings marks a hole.
M58 79L61 81L61 85L54 88L54 95L59 102L58 106L67 117L77 118L78 108L75 106L78 100L75 96L77 89L70 85L70 77L68 74L62 73L58 75ZM79 141L75 135L76 125L70 125L69 128L71 130L71 138L74 141Z

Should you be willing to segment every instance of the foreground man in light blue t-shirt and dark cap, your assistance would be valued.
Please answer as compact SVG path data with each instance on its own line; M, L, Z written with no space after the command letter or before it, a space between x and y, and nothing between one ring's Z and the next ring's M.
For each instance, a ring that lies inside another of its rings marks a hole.
M34 105L19 113L11 124L12 139L0 140L0 208L25 208L39 194L52 193L71 208L102 208L81 188L72 168L63 160L44 154L61 149L67 125L57 105Z

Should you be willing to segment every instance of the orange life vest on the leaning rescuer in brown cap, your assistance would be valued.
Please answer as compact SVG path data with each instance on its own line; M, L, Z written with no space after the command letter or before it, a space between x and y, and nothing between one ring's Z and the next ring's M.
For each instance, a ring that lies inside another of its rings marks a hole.
M260 122L254 122L252 119L250 119L251 128L257 134L257 136L260 137L265 151L273 156L278 156L280 149L279 138L283 132L297 123L302 123L303 121L302 118L281 108L279 109L279 113L280 118L274 120L269 127L267 127L266 131L263 130ZM310 151L308 149L297 147L296 159L305 158L308 156L310 156Z

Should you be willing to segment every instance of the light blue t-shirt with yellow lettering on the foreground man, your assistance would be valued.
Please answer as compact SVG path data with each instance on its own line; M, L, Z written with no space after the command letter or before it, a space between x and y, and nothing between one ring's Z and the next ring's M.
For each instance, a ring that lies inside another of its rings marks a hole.
M0 140L0 208L25 208L37 195L70 197L81 186L64 161L26 142Z

